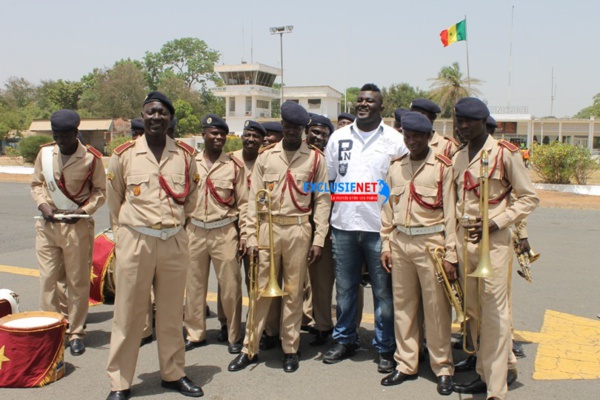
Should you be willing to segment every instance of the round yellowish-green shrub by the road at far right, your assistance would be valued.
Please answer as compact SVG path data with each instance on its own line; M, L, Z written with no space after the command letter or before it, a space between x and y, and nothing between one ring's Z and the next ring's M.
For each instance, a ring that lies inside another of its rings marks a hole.
M592 173L600 168L588 149L559 142L543 146L533 144L530 162L531 168L546 183L568 184L574 179L585 185Z

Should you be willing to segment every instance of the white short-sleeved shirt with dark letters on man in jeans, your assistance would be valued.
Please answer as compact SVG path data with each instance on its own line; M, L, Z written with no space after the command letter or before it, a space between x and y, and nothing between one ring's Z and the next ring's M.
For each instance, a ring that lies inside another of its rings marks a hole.
M406 153L402 134L383 120L375 133L366 138L354 122L329 138L325 148L329 180L336 185L385 181L390 161ZM379 232L384 200L378 196L378 201L372 202L336 201L331 226L345 231Z

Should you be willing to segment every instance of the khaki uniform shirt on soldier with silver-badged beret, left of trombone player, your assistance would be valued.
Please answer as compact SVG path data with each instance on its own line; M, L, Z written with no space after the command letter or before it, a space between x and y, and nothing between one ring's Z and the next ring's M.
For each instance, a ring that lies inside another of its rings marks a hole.
M241 163L241 160L238 159L238 162ZM198 203L192 217L202 222L214 222L239 215L241 238L245 239L248 204L245 168L238 165L227 153L221 153L209 168L203 151L196 154L196 166L200 174L200 182ZM212 182L216 196L211 192L209 182ZM226 204L222 204L219 200Z

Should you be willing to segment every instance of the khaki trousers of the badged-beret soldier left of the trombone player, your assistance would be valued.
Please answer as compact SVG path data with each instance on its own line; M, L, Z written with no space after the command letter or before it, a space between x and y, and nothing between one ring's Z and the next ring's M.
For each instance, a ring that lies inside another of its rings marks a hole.
M188 225L190 266L186 284L185 327L187 339L206 339L206 296L212 261L219 282L219 298L227 319L229 343L241 338L242 274L237 261L238 234L233 223L215 229Z

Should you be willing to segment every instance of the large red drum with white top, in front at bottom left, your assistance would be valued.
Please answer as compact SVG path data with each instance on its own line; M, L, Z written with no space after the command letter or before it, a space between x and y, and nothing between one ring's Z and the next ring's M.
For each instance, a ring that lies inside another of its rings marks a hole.
M65 374L67 320L46 311L0 318L0 387L44 386Z

